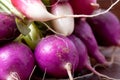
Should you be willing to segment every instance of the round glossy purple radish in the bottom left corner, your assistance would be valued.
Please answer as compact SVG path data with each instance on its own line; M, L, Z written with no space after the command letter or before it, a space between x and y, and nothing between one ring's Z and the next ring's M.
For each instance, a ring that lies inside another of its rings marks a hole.
M33 53L26 45L12 42L0 47L0 80L8 80L12 74L28 80L34 65Z

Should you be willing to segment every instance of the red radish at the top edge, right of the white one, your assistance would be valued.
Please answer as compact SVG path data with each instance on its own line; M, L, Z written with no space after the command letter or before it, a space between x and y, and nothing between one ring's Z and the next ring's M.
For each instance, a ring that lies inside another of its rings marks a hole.
M97 0L69 0L74 14L91 14L99 7Z

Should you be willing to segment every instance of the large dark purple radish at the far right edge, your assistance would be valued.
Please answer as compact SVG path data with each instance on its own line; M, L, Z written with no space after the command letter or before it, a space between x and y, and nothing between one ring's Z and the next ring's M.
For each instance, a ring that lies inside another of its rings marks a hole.
M88 19L94 35L102 46L120 45L120 22L112 12Z

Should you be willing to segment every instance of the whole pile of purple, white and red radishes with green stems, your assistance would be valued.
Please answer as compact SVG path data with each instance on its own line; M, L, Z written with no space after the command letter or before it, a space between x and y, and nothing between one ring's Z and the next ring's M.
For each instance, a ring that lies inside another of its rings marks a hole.
M36 67L45 78L74 80L86 68L114 80L96 71L91 58L112 65L99 46L120 45L116 15L90 17L105 11L96 0L44 2L0 0L0 80L31 80Z

